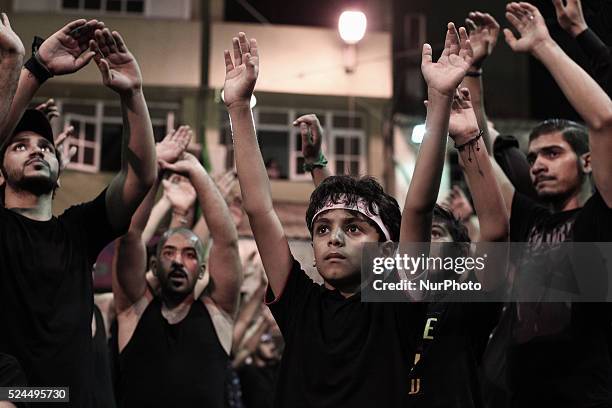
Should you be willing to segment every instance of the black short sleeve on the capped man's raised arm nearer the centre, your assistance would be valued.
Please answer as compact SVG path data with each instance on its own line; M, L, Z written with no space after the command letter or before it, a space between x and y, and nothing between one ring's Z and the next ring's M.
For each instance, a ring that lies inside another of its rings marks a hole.
M72 206L59 216L60 221L81 236L92 264L106 245L127 231L127 227L117 231L110 224L106 211L107 190L93 201Z

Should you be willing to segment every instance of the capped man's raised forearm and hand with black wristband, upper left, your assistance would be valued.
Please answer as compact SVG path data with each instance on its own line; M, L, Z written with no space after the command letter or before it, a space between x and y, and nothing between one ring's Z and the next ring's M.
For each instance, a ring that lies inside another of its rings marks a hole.
M40 73L35 75L26 67L21 70L15 98L0 140L12 133L44 80L55 75L76 72L92 60L95 51L89 47L89 41L93 38L94 30L102 27L104 24L97 20L75 20L41 44L35 61L44 72L44 78Z

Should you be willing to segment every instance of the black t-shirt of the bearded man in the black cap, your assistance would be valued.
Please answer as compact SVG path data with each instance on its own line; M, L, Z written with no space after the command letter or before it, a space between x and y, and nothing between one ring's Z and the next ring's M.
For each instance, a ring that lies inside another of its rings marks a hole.
M19 361L28 385L70 387L63 406L93 404L91 272L118 235L105 191L49 221L0 208L0 352Z

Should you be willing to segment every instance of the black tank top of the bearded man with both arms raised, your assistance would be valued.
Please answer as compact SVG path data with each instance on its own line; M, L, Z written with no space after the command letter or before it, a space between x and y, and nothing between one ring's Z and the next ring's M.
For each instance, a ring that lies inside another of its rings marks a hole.
M196 301L170 324L155 297L119 355L122 408L223 408L229 357L206 306Z

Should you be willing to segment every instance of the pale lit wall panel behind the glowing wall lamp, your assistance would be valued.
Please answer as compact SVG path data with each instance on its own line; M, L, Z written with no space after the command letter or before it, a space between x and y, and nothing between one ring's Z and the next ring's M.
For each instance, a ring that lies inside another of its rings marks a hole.
M257 38L261 71L257 91L308 95L344 95L390 98L391 35L368 32L358 44L355 72L343 65L343 45L335 29L263 26L246 23L211 24L209 86L222 88L223 50L244 31Z

